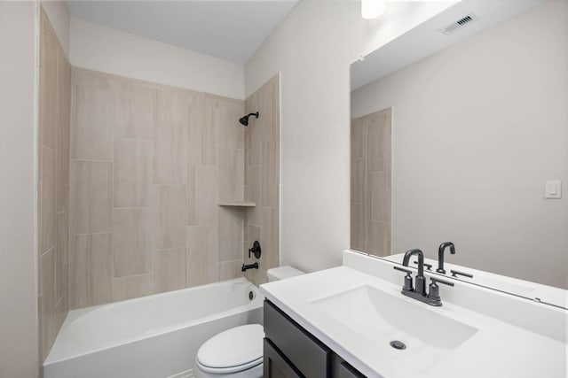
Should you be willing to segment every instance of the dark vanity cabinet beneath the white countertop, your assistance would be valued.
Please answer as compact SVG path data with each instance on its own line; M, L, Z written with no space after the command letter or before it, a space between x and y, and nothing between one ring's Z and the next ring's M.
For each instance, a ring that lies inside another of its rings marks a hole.
M264 378L365 376L268 300L264 335Z

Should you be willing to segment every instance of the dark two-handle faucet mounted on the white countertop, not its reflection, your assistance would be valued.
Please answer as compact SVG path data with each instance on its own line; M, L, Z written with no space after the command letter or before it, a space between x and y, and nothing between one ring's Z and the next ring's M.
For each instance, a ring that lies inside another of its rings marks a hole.
M438 283L443 283L448 286L454 286L452 282L439 280L438 278L430 277L430 293L426 292L426 277L424 277L424 253L420 250L406 251L405 257L402 260L403 266L408 266L408 262L413 255L418 255L418 274L416 274L416 287L413 288L412 270L404 269L394 266L396 270L405 272L405 283L402 287L401 293L406 297L417 299L428 305L441 306L442 299L439 295Z

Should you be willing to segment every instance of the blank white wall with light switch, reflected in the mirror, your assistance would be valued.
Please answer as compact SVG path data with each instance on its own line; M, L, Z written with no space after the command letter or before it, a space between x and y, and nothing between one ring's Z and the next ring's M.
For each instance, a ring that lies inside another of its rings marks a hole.
M540 5L356 90L392 106L393 251L556 286L568 274L565 1ZM564 198L544 199L546 180Z

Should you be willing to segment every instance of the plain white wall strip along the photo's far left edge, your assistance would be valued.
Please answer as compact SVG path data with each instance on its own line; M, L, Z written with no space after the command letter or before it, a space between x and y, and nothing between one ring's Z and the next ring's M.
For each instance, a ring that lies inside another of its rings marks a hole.
M0 377L37 376L36 2L0 2Z

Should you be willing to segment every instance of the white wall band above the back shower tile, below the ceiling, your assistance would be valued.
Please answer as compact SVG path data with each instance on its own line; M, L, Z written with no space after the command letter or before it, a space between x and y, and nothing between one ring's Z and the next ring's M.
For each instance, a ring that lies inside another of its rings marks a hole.
M71 18L71 65L244 100L244 66Z

